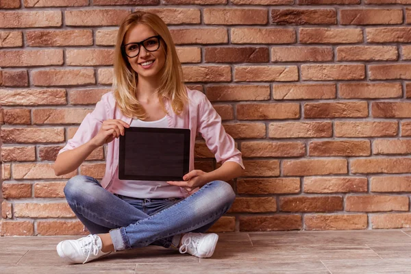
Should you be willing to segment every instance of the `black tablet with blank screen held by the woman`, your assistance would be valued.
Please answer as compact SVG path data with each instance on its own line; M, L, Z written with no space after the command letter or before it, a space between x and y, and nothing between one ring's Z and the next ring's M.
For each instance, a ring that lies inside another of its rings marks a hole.
M119 179L183 181L188 173L190 129L128 127L119 138Z

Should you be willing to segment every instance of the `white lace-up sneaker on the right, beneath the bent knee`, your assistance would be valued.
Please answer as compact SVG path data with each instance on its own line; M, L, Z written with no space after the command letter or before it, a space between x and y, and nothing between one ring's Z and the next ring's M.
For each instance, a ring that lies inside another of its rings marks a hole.
M188 233L183 236L179 251L180 253L187 252L198 258L209 258L216 249L217 240L219 240L219 235L215 233Z

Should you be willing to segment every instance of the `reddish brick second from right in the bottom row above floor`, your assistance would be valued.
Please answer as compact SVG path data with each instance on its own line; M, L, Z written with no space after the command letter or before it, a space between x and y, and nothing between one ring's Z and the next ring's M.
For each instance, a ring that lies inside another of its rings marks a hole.
M304 216L306 230L345 230L366 229L366 214L306 214Z

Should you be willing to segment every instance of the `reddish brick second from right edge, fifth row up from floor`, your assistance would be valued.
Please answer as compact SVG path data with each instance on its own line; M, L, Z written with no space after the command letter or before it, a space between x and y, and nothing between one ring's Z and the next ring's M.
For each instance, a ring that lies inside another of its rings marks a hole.
M310 142L310 156L369 156L369 140L333 140Z

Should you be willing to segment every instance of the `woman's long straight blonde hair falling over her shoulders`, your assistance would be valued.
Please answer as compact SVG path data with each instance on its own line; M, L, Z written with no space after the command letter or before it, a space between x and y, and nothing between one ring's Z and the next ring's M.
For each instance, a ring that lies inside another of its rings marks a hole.
M176 114L181 114L184 105L188 102L186 86L183 83L183 71L171 34L162 19L149 12L136 11L123 19L116 39L114 51L114 98L125 116L136 117L144 120L147 114L137 100L138 74L130 66L127 55L123 53L121 45L125 34L132 27L143 24L151 27L162 38L162 46L165 47L166 61L160 71L160 87L156 91L164 112L166 111L163 98L171 100L171 106ZM165 44L165 45L164 45Z

